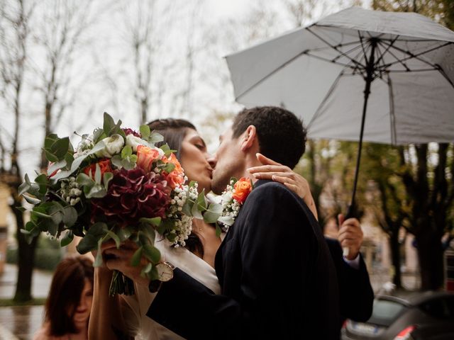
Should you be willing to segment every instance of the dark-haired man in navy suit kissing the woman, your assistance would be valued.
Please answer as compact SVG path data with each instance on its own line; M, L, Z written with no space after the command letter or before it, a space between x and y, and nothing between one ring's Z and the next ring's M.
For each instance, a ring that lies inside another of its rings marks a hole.
M221 136L214 191L266 157L293 168L306 132L289 111L240 112ZM216 254L222 294L175 268L148 316L187 339L338 339L338 282L321 229L280 183L259 180Z

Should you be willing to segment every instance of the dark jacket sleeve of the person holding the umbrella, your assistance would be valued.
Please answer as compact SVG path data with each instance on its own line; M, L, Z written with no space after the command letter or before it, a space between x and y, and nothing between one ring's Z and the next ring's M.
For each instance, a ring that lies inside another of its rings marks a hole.
M326 243L331 252L339 283L339 301L341 319L339 329L345 319L365 322L372 314L374 291L370 285L369 273L360 255L360 266L352 268L343 260L341 244L337 239L326 237Z

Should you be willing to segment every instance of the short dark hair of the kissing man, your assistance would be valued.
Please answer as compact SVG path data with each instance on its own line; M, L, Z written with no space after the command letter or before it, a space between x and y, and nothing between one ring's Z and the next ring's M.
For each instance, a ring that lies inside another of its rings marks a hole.
M277 106L245 108L233 120L233 138L249 125L257 130L260 152L293 169L306 149L306 129L296 115Z

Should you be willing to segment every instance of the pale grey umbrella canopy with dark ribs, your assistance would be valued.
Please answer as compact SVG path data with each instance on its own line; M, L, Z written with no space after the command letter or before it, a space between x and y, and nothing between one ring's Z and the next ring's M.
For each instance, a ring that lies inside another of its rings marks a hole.
M454 32L425 16L348 8L226 60L236 101L284 106L310 138L454 141Z

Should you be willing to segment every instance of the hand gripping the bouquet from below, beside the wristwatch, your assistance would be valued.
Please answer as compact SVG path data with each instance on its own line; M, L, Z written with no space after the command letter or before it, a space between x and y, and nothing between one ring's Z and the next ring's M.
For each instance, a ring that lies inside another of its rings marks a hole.
M142 268L147 265L148 261L142 257L138 266L131 264L133 254L138 249L138 245L132 241L123 242L120 248L114 246L106 246L103 250L103 257L106 267L111 271L121 271L125 276L131 278L135 283L148 287L150 280L140 275Z

